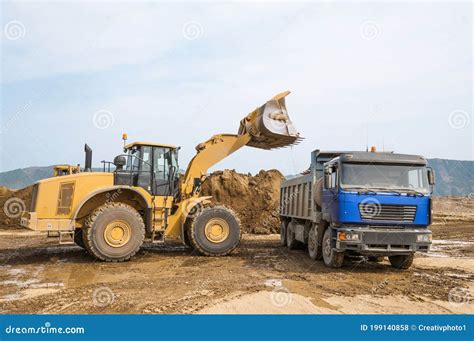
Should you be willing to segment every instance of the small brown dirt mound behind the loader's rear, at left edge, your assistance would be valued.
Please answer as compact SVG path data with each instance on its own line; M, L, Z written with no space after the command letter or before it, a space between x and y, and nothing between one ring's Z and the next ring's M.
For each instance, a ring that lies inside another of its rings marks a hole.
M0 186L0 229L19 227L21 212L30 207L32 188L13 190Z

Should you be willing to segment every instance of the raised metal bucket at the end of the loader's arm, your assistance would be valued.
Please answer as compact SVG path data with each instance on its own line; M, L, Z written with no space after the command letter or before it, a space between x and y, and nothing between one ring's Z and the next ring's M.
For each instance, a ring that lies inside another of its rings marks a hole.
M285 97L289 91L276 95L240 121L239 135L249 134L247 146L273 149L297 144L302 138L288 116Z

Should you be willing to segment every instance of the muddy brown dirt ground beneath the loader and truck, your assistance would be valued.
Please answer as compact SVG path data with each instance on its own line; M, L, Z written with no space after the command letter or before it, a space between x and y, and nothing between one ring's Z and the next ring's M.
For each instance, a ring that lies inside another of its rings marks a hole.
M280 247L277 235L244 235L230 257L149 244L131 262L109 264L77 246L3 230L0 312L472 313L473 228L447 228L433 228L433 251L407 271L361 259L328 269Z

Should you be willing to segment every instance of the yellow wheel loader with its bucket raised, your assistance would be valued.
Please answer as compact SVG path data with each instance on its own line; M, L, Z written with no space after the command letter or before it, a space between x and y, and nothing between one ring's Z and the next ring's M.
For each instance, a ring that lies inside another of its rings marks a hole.
M92 150L86 144L83 169L61 165L57 176L34 184L21 225L59 237L60 244L76 243L102 261L129 260L145 240L179 242L207 256L227 255L239 245L239 219L230 208L214 205L212 197L200 196L201 183L209 167L243 146L273 149L299 142L286 111L288 94L248 114L237 134L200 143L181 176L176 146L124 142L124 154L103 161L102 171L92 171Z

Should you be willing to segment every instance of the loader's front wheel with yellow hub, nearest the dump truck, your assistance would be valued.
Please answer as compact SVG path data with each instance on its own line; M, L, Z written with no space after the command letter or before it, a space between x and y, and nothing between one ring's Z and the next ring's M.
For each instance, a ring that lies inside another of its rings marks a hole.
M225 206L204 208L190 218L186 230L191 247L206 256L228 255L242 236L239 218Z

